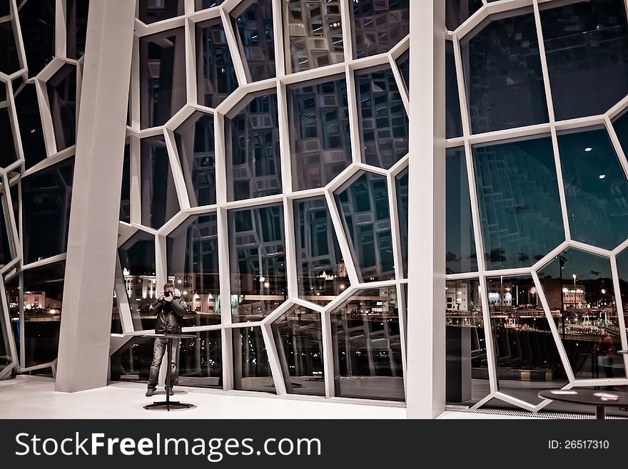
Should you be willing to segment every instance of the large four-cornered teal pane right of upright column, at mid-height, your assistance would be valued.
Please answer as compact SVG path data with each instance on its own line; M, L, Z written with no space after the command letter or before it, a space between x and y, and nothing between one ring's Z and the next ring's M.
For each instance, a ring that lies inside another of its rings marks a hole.
M487 267L530 267L564 241L552 139L472 150Z

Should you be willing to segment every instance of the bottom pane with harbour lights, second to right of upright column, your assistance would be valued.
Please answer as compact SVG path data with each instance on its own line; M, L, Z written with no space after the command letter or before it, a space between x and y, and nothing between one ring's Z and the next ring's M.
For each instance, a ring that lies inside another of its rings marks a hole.
M487 279L498 388L535 405L569 383L537 293L530 275Z

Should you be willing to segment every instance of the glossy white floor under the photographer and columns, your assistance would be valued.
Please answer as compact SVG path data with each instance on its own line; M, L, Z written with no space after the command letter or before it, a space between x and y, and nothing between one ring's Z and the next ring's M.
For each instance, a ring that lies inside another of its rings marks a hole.
M348 399L274 396L250 392L223 393L203 388L175 388L172 399L195 408L147 411L143 408L166 394L144 396L146 385L113 383L106 388L57 393L54 381L17 376L0 381L0 418L405 418L405 407L378 406ZM439 418L512 418L445 412Z

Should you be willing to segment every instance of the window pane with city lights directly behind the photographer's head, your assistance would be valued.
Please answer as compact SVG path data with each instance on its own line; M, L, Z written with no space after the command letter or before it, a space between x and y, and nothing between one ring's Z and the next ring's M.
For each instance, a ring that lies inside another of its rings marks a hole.
M191 313L183 326L221 324L216 213L189 217L168 234L166 249L168 281L181 290Z

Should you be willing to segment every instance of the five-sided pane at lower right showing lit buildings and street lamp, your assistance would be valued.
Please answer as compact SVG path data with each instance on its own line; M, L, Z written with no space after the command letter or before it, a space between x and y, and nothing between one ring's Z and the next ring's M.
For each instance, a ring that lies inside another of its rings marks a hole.
M539 277L576 379L626 376L609 259L569 248Z

